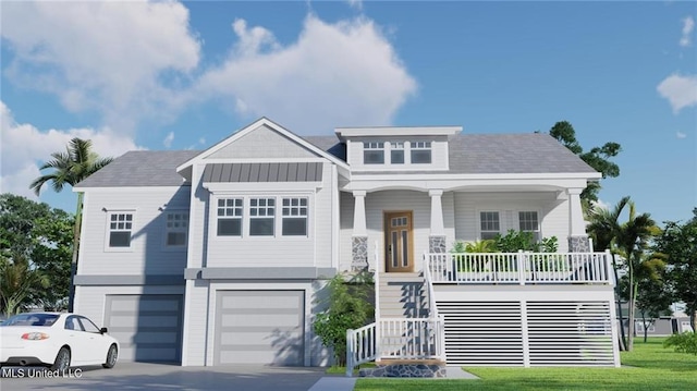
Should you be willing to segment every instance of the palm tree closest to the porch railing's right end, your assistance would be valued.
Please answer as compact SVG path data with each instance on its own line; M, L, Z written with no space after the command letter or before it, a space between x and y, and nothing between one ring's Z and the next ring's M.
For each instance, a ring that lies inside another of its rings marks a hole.
M614 294L620 315L620 325L624 325L624 316L622 315L620 277L617 276L614 242L620 232L620 216L628 203L629 197L626 196L620 199L612 209L606 209L595 205L589 212L590 224L588 225L588 233L590 237L592 237L594 246L600 251L609 249L612 256L612 270L614 271L614 280L616 282ZM627 340L624 334L624 327L620 327L620 347L624 351L626 350L626 345Z

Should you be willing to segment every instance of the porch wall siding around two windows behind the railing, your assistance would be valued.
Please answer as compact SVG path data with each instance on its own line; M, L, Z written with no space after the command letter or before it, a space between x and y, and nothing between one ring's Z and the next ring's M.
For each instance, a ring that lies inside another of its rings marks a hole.
M568 203L554 192L539 193L455 193L455 236L474 242L479 239L479 212L499 211L501 232L518 230L518 211L538 211L543 237L557 236L559 251L568 248Z

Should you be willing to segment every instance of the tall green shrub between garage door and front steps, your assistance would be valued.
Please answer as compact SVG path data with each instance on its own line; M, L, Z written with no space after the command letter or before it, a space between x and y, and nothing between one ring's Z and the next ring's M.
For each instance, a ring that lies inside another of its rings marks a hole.
M345 281L343 274L337 274L328 288L331 293L327 310L317 315L313 326L322 344L334 353L335 363L345 365L346 330L358 329L375 317L375 308L369 301L372 282L365 274L350 281Z

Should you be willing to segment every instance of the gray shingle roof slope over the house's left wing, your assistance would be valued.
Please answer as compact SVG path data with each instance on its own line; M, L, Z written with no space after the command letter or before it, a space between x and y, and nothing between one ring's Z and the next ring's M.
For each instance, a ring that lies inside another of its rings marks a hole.
M81 187L181 186L176 167L200 150L132 150L80 182Z

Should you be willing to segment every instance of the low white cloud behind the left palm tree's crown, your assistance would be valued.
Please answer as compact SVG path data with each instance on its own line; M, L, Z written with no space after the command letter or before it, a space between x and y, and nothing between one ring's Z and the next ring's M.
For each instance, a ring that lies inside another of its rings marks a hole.
M41 175L39 167L50 159L52 152L62 151L73 137L88 138L94 150L102 157L118 157L129 150L140 149L126 135L115 134L109 129L70 129L39 131L32 124L19 124L12 112L0 101L0 192L14 193L38 199L29 184ZM47 191L45 186L44 192Z

